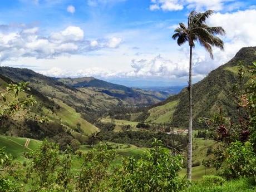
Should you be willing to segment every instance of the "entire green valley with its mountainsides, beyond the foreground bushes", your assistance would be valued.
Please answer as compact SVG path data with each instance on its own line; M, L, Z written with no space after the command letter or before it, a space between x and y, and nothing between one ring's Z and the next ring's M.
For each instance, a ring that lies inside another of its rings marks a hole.
M212 129L216 128L211 126L215 126L217 120L222 124L216 126L223 127L232 127L233 122L238 122L239 114L235 112L237 104L234 102L235 95L232 95L233 85L237 85L235 83L239 80L240 66L237 63L252 63L255 60L256 47L242 48L232 60L193 86L192 181L219 173L212 162L222 144L219 135L215 136L219 128L214 132ZM246 84L250 78L250 66L244 65L244 68L247 70L243 76ZM47 143L47 139L60 147L60 151L55 151L60 159L69 157L72 160L69 169L74 175L83 170L83 157L97 156L97 150L102 149L102 155L109 152L111 156L113 152L115 156L111 157L106 173L114 175L115 170L125 166L130 158L134 158L132 162L149 158L147 155L158 149L154 143L161 142L163 151L174 157L183 156L178 178L186 176L187 88L173 95L159 88L158 91L155 88L142 90L93 77L52 78L20 68L0 67L0 74L3 95L8 90L12 91L10 86L15 87L16 83L19 86L18 82L29 82L26 90L19 88L17 92L20 94L3 96L1 105L26 101L29 96L36 100L32 107L24 106L24 109L11 115L4 114L6 116L1 119L0 149L3 147L18 165L30 164L29 158L32 157L28 154L42 152L40 147L43 145L56 150ZM220 119L210 122L211 116L219 110L221 114L217 117ZM200 122L200 118L205 118L205 121ZM73 152L67 152L69 150ZM28 183L27 187L31 184Z

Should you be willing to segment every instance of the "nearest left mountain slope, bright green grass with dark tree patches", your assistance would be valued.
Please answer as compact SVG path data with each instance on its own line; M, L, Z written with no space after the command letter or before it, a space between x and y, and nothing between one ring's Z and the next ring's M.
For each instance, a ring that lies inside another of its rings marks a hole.
M4 92L11 82L13 82L11 79L0 73L1 92ZM16 115L2 121L2 134L34 139L75 138L84 142L93 132L99 131L97 127L83 119L80 113L61 100L47 97L33 87L31 87L31 91L26 91L23 97L27 95L33 95L37 104L28 113L18 111ZM12 100L12 97L9 99ZM50 122L41 124L41 117L48 117Z

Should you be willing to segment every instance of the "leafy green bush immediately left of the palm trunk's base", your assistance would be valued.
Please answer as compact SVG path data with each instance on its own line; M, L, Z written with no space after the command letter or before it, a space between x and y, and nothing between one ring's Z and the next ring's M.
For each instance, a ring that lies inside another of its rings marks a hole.
M179 177L182 157L171 155L159 140L155 140L153 146L144 159L136 161L130 157L123 161L113 182L117 191L174 192L182 188Z

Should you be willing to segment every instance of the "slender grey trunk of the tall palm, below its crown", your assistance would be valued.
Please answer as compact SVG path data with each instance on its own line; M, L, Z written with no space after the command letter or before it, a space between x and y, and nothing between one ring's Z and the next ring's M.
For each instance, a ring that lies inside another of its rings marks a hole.
M192 46L189 55L189 130L188 130L188 165L186 170L187 179L191 181L192 175Z

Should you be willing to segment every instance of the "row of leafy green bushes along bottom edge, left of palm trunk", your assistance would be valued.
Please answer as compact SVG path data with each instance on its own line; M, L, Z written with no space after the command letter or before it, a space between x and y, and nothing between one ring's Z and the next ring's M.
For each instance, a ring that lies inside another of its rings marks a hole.
M86 154L77 153L82 164L75 172L69 147L62 152L57 144L45 140L37 150L25 154L28 161L17 163L15 169L9 169L14 168L13 161L1 149L4 172L0 191L25 191L23 185L31 186L28 191L40 192L178 191L183 186L179 178L182 157L173 156L159 140L152 145L144 158L126 158L114 169L111 163L116 159L116 151L100 143Z

